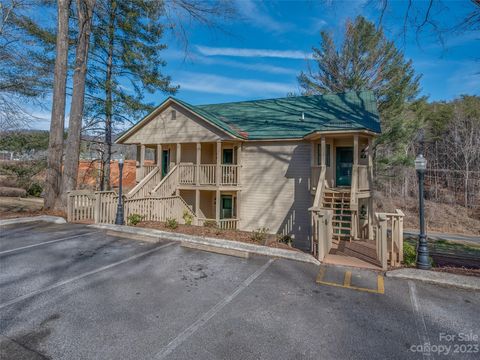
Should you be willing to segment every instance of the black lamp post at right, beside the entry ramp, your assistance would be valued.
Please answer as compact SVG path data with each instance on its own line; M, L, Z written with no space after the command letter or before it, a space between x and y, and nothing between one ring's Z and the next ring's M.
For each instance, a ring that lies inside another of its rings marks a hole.
M427 235L425 234L425 205L423 183L425 170L427 169L427 160L422 154L415 159L415 170L418 174L418 205L420 216L420 234L418 235L417 246L417 268L422 270L430 269L430 260L428 256Z

